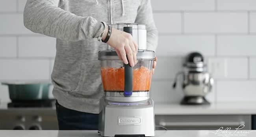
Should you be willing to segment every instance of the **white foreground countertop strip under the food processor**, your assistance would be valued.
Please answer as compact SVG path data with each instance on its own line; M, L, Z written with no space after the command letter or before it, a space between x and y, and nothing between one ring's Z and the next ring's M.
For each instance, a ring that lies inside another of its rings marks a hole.
M256 131L243 130L215 134L214 130L158 130L155 137L255 137ZM250 132L250 133L245 133ZM0 137L100 137L96 130L0 130Z

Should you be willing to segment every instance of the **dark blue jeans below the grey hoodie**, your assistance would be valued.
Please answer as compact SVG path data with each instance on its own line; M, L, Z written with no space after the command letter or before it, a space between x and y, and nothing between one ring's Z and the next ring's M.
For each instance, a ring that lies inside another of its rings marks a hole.
M59 130L98 130L98 114L70 110L56 101Z

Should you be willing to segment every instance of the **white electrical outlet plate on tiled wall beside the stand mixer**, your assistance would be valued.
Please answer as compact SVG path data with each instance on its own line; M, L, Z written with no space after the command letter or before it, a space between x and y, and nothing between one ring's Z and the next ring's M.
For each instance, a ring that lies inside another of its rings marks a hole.
M213 78L225 78L227 76L227 59L209 58L208 71Z

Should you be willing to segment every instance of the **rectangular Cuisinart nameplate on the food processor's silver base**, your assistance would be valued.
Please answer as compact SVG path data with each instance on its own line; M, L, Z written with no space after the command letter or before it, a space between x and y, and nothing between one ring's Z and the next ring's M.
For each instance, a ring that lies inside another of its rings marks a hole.
M141 125L141 116L119 116L118 125Z

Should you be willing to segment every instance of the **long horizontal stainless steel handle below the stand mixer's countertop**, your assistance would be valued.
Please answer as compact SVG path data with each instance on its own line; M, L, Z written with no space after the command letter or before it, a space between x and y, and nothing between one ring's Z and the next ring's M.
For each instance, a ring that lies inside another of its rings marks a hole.
M245 124L245 121L204 121L204 122L160 122L160 126L240 126Z

